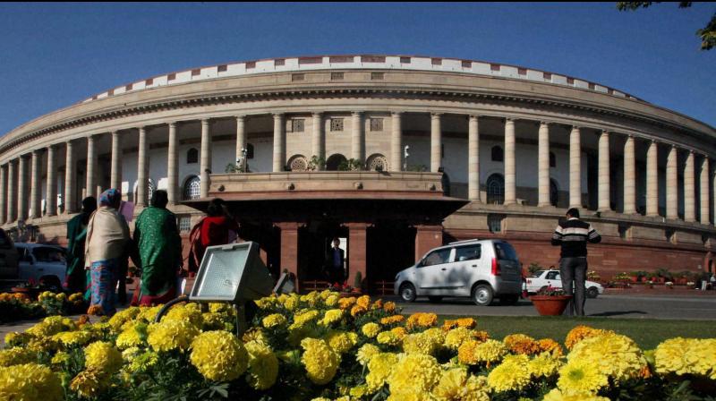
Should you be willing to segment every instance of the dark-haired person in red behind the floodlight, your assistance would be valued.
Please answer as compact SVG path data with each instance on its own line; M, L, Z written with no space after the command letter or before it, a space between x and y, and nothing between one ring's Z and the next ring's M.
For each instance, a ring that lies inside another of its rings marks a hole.
M189 274L193 276L199 270L207 247L233 242L238 232L239 225L226 209L226 201L220 198L209 201L207 217L193 226L189 234Z

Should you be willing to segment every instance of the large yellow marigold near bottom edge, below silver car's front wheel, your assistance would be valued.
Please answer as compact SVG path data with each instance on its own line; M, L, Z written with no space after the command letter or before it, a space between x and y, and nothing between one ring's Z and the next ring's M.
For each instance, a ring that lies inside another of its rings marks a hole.
M430 392L440 380L440 365L430 355L404 354L388 377L390 393Z

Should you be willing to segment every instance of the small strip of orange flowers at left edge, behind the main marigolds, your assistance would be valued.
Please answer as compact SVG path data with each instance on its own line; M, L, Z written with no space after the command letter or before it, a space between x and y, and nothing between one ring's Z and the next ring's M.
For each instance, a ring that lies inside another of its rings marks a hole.
M54 294L49 291L39 294L32 301L26 294L0 294L0 322L38 319L45 316L70 314L84 308L82 294Z

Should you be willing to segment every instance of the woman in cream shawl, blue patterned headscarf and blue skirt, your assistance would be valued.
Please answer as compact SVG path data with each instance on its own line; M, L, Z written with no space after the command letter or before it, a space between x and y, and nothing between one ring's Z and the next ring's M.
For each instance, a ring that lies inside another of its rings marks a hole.
M122 194L109 189L99 196L99 209L90 217L85 243L85 268L92 277L90 311L115 313L115 287L131 244L129 226L119 213ZM124 278L124 277L123 277Z

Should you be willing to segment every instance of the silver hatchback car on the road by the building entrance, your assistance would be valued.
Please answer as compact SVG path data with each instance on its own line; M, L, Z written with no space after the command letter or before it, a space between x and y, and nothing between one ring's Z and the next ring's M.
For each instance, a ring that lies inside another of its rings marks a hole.
M501 240L469 240L435 248L396 275L396 295L405 302L427 296L469 296L484 306L499 298L514 304L522 293L522 268L515 248Z

